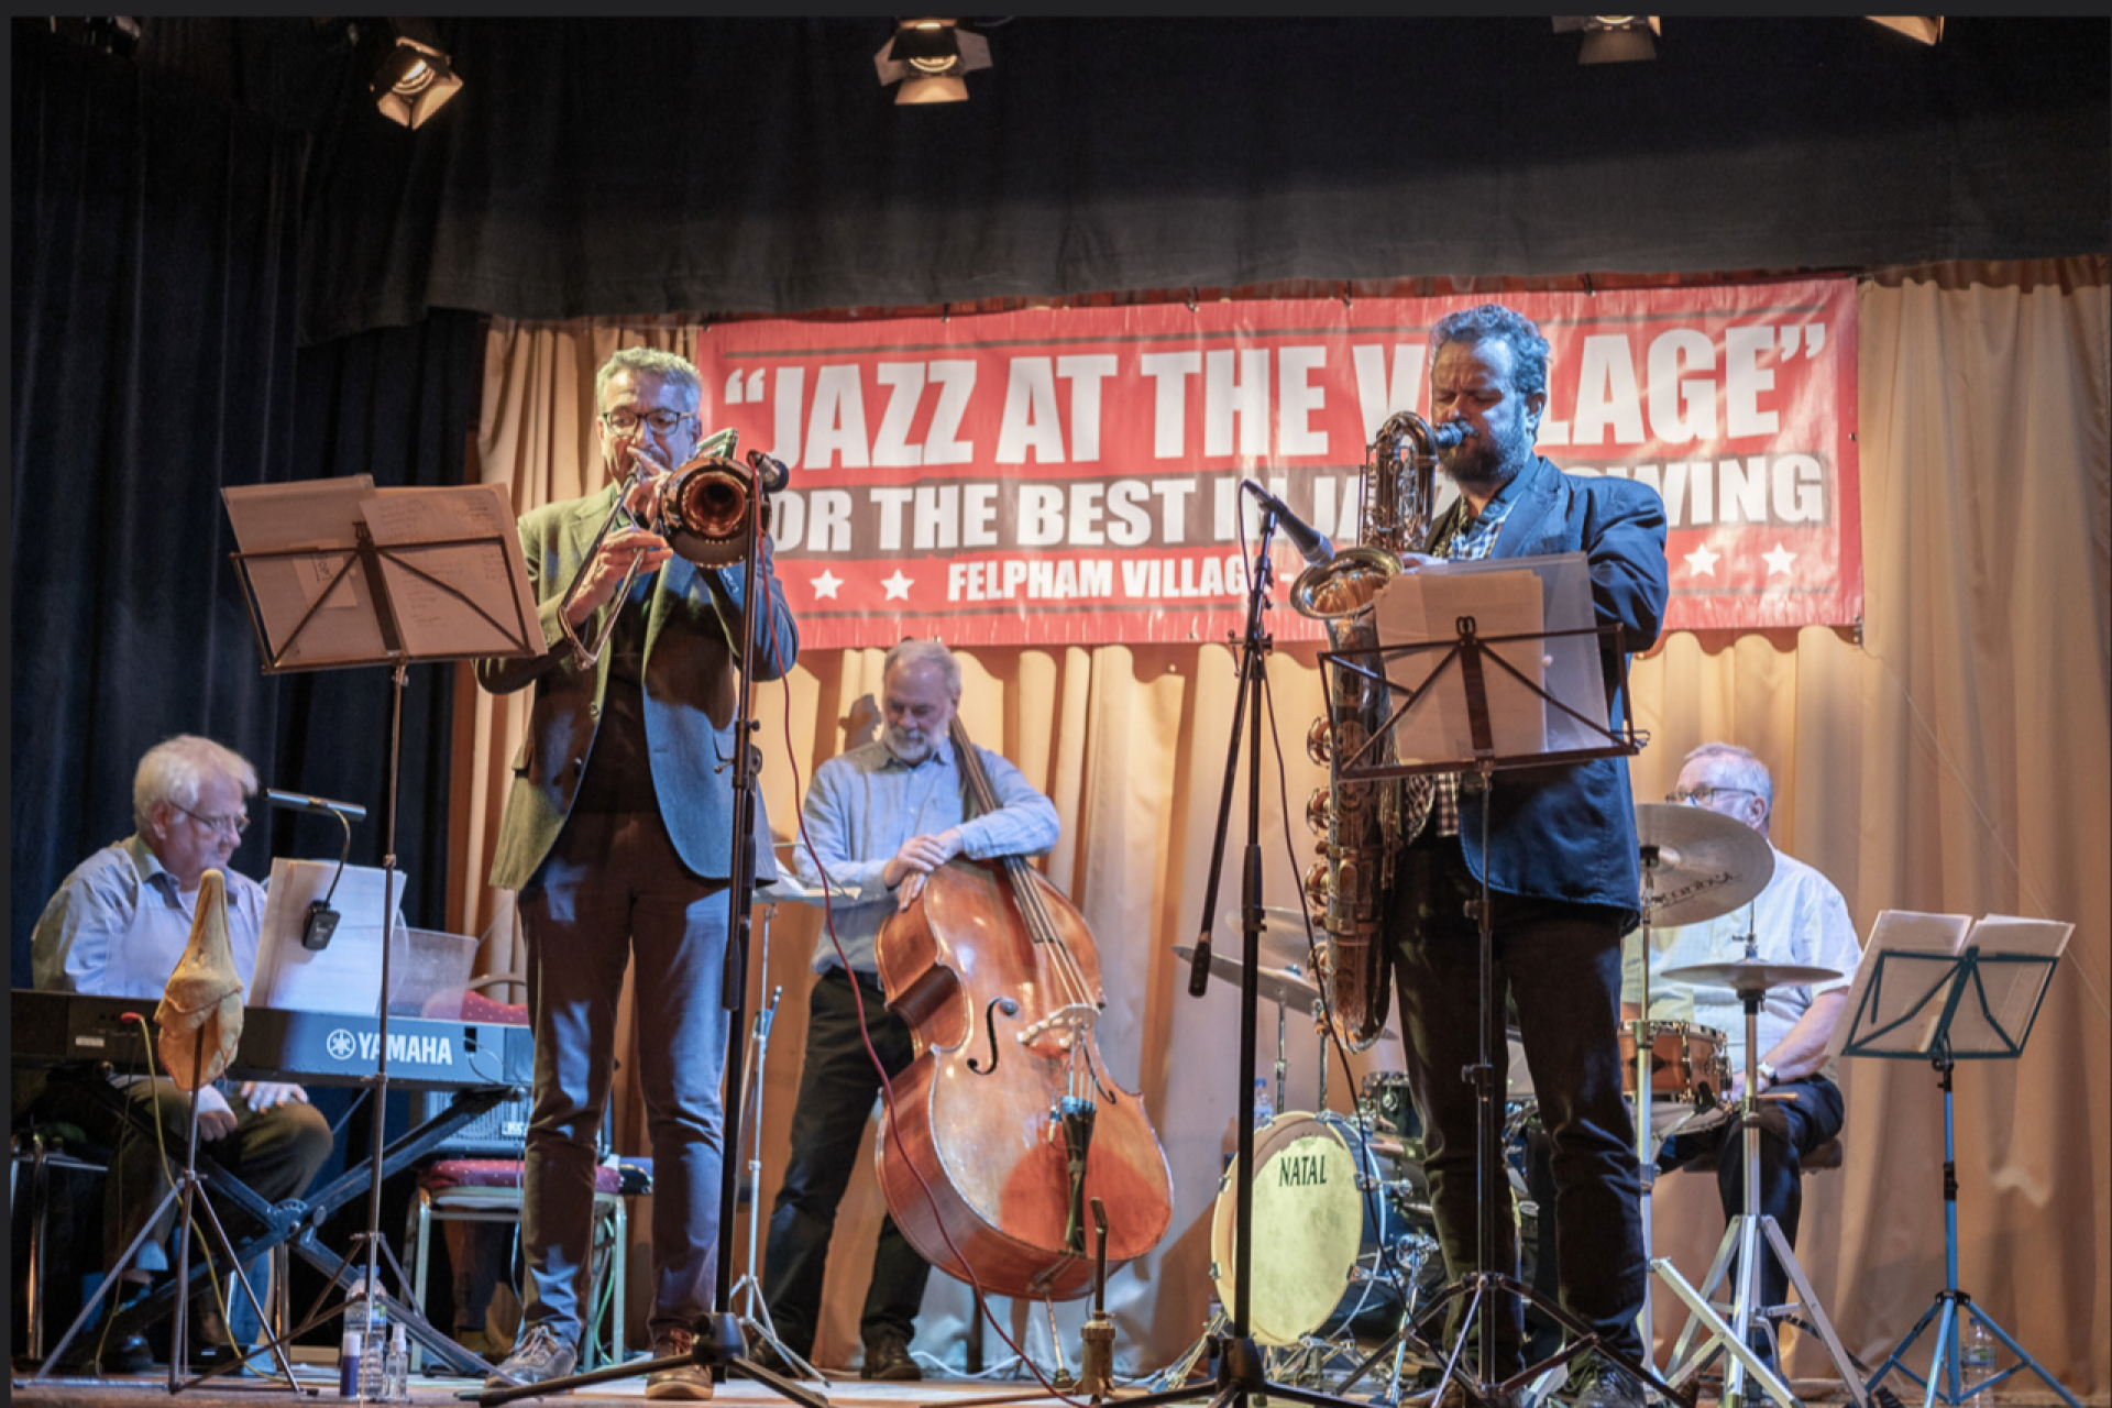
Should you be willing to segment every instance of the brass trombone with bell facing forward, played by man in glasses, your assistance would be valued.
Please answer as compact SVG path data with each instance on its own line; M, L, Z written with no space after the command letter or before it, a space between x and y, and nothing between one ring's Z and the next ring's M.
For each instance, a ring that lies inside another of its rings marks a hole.
M558 602L558 625L564 629L564 638L572 642L579 652L581 665L593 665L602 659L602 650L608 648L608 635L617 629L617 614L623 602L629 600L631 587L638 583L638 564L642 557L631 557L629 570L623 574L623 585L617 587L615 597L610 597L615 610L602 621L602 629L593 635L589 646L572 629L572 597L579 595L581 583L587 581L587 568L593 566L593 555L602 551L602 538L608 530L623 519L629 528L644 528L646 532L659 534L667 540L667 547L676 555L686 557L699 568L729 568L748 555L748 534L750 534L750 500L758 492L758 473L767 475L775 469L775 460L762 454L750 454L754 471L743 469L733 460L733 450L739 445L739 431L714 431L697 445L697 454L689 458L680 469L670 471L653 488L653 496L646 502L644 517L634 515L625 509L625 500L631 494L631 486L638 481L636 462L631 473L623 477L623 488L617 490L617 502L608 507L608 517L593 534L593 543L587 545L587 555L579 564L579 572L572 574L572 583L564 589L564 597ZM765 488L779 488L765 479ZM762 530L771 526L771 505L769 498L762 500Z

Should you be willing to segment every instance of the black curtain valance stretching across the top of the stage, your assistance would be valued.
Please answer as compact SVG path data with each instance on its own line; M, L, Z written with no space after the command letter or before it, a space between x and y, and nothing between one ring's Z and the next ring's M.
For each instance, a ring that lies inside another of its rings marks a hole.
M2112 245L2112 23L1037 19L895 108L887 21L463 19L317 148L304 336L1284 279L1867 268Z

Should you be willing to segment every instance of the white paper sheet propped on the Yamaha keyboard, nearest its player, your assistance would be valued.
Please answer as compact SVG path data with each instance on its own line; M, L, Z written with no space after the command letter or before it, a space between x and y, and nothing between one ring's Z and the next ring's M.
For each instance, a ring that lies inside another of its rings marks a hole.
M264 897L264 933L258 939L258 971L249 986L253 1007L296 1011L342 1011L372 1017L382 1003L382 880L372 865L346 865L329 908L340 914L329 946L310 952L300 946L308 901L329 891L336 861L270 863ZM397 872L395 925L403 925L403 872Z

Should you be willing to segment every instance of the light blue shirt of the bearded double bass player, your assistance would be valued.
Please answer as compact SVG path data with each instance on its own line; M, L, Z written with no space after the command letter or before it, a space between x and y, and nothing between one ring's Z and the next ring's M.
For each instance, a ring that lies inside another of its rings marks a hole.
M800 884L813 891L811 903L822 903L822 874L828 874L836 939L851 969L876 971L872 939L895 912L895 891L887 889L881 872L910 836L938 836L959 825L961 853L978 861L1041 855L1056 844L1062 832L1056 804L991 749L976 751L997 792L997 811L972 821L963 821L965 779L950 743L940 743L938 751L914 766L900 762L885 743L868 743L815 768L805 808L807 840L815 853L809 855L807 844L794 838L792 868ZM836 965L836 944L828 941L824 922L813 946L813 971L826 973Z

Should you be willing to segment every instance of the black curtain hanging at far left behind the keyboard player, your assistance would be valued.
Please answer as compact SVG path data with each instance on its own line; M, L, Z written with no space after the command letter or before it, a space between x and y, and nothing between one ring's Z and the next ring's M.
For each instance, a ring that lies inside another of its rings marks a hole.
M296 350L304 137L196 84L15 32L11 979L89 851L131 832L139 754L203 732L266 785L361 802L380 863L389 673L260 673L220 490L372 473L458 483L477 315ZM406 914L444 912L452 669L410 669ZM266 817L234 855L334 855Z

